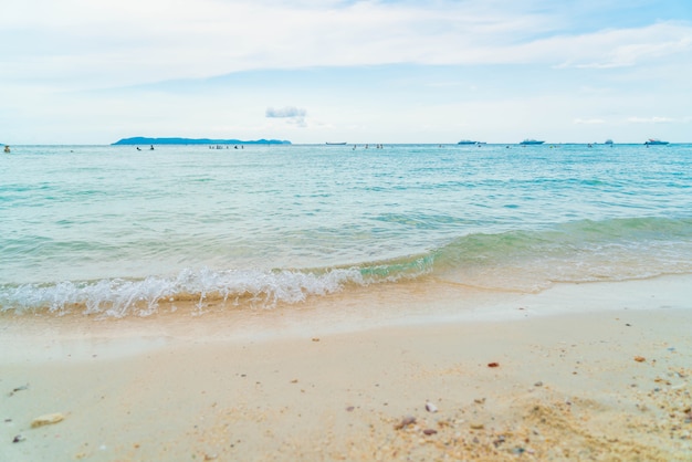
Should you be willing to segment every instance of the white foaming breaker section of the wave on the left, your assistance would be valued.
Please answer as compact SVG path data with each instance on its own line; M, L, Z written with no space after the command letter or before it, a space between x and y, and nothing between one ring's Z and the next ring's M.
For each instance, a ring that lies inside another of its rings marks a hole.
M308 296L327 295L346 286L365 286L429 272L426 259L401 259L365 267L328 270L228 270L187 269L175 277L111 279L94 282L22 284L0 287L0 312L48 312L63 315L81 312L107 317L148 316L161 302L195 302L198 308L213 301L270 308L295 304Z

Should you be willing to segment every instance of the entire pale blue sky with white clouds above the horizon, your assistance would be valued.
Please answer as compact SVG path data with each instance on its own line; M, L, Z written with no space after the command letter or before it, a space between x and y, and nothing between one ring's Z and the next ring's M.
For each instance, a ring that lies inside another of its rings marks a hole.
M0 143L692 141L691 0L0 0Z

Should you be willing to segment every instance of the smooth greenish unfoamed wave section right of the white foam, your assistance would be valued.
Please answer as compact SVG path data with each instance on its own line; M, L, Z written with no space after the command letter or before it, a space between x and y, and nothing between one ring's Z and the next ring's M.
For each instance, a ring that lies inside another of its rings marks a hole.
M692 219L579 220L538 231L475 233L437 253L439 277L495 290L681 274L692 272Z

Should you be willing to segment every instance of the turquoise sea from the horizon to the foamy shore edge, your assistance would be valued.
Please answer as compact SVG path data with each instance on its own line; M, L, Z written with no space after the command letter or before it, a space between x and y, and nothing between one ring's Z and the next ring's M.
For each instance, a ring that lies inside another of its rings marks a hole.
M692 273L692 145L17 146L0 311Z

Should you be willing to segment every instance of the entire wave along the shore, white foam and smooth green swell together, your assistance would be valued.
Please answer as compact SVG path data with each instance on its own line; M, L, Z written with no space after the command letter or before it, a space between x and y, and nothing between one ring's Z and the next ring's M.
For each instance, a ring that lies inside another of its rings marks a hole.
M0 312L147 316L160 303L241 307L296 304L353 287L434 281L536 292L557 282L623 281L692 273L692 219L579 220L543 230L470 233L398 259L328 269L192 270L139 280L0 286ZM431 280L431 281L432 281Z

